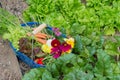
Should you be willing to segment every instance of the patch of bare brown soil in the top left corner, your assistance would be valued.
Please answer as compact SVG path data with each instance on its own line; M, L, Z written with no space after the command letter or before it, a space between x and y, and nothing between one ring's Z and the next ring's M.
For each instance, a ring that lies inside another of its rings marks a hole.
M0 0L0 7L21 17L22 12L27 8L27 4L25 0Z

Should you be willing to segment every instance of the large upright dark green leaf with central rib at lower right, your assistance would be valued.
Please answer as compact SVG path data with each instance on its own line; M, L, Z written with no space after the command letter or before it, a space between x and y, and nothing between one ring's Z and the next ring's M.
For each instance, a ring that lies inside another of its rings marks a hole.
M97 50L98 61L94 68L96 77L113 76L113 68L110 61L110 56L102 49Z

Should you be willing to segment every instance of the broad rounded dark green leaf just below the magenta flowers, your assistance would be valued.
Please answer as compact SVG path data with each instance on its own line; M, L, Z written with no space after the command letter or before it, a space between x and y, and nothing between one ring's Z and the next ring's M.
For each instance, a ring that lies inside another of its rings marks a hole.
M77 67L76 56L72 53L64 54L60 58L57 59L56 66L58 66L60 73L67 74L71 72Z

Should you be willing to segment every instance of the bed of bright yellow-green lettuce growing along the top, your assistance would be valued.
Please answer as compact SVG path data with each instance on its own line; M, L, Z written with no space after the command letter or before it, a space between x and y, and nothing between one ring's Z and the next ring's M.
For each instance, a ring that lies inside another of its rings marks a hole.
M116 29L119 30L119 3L116 0L87 0L84 5L80 0L29 0L24 17L27 21L34 19L64 27L69 34L100 34L102 30L105 35L114 35Z

